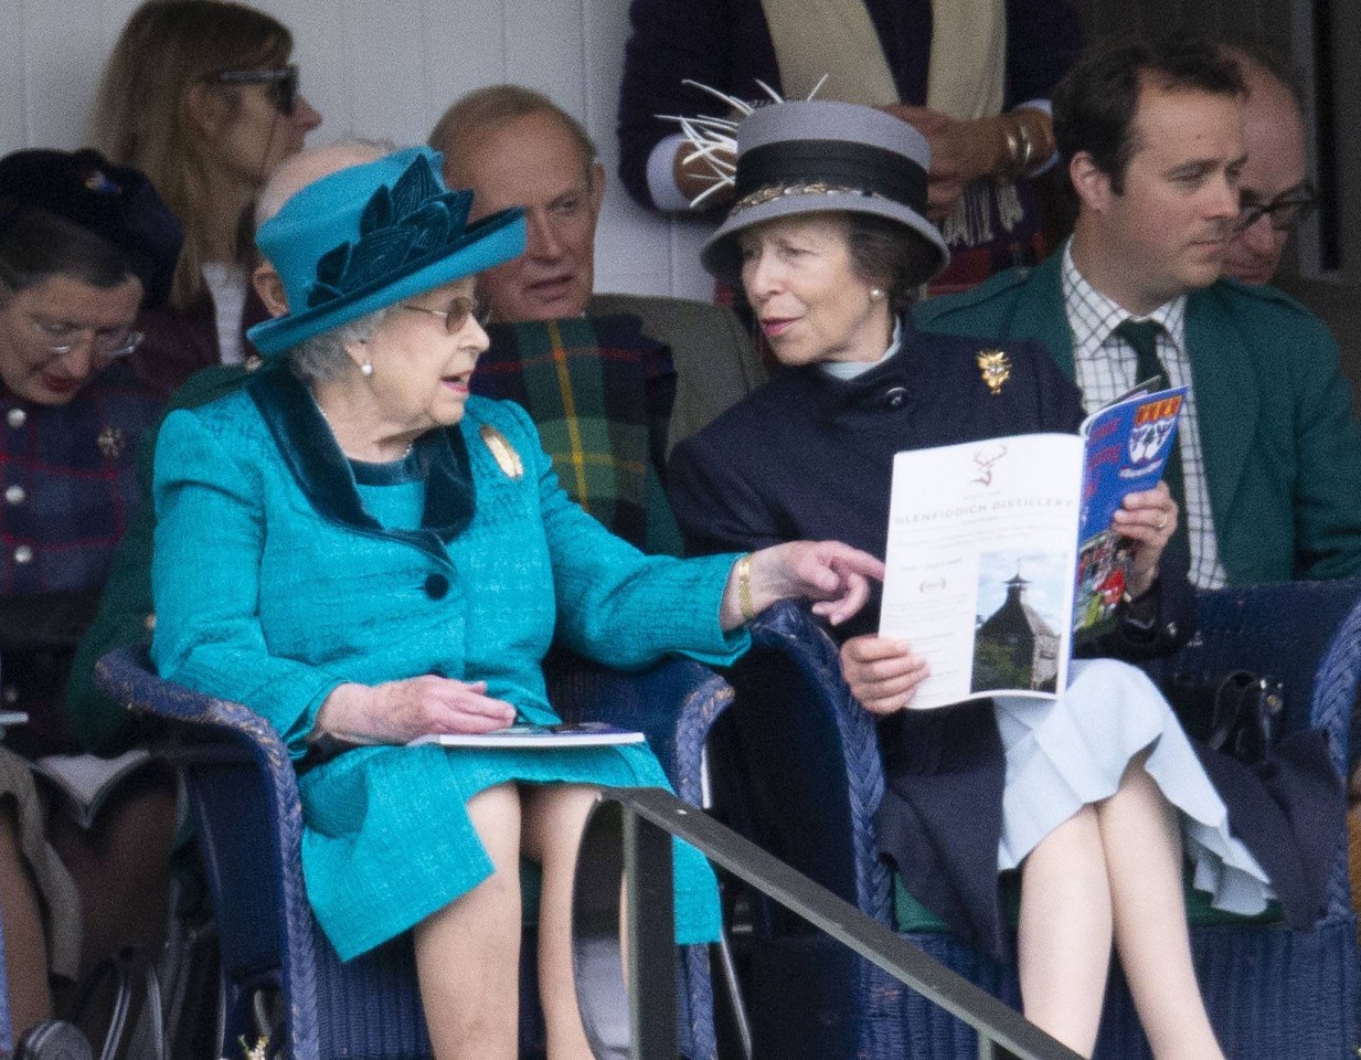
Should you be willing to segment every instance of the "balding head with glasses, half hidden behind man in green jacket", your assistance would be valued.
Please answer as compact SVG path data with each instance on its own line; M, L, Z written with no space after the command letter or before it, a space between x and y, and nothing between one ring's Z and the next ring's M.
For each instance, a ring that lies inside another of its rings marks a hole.
M1248 161L1239 181L1239 222L1224 254L1224 274L1243 283L1271 283L1290 233L1316 204L1305 180L1304 118L1286 72L1270 54L1239 45L1224 53L1239 64L1243 143Z

